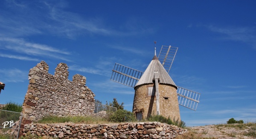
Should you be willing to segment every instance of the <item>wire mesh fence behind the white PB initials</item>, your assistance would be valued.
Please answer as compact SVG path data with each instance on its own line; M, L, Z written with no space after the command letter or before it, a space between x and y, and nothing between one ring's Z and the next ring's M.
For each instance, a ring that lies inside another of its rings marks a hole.
M8 133L18 139L21 119L22 113L20 112L0 110L0 133Z

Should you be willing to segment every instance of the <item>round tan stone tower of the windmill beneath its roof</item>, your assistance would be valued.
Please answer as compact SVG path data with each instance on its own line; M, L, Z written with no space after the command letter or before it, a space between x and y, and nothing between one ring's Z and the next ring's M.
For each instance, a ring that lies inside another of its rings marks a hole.
M153 83L143 84L135 88L133 112L142 112L143 118L156 113L156 95L148 96L148 87ZM159 84L160 115L172 120L180 120L180 110L177 101L177 89L172 85Z

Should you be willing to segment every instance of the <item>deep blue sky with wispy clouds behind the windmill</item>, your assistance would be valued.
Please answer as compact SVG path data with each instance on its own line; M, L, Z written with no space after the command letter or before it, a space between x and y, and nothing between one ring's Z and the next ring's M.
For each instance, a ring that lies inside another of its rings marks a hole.
M1 0L0 103L23 103L29 69L59 63L87 78L95 99L117 98L131 111L134 89L110 81L114 63L140 71L162 45L178 47L169 72L201 93L186 125L256 121L255 0Z

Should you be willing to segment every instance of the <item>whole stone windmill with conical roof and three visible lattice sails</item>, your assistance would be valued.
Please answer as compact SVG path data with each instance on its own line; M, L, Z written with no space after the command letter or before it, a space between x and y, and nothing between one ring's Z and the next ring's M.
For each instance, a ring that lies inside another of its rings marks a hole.
M145 72L115 63L111 81L134 87L133 112L137 119L151 114L180 119L178 105L196 111L200 93L176 86L169 75L177 50L171 45L162 46L157 57L155 48Z

